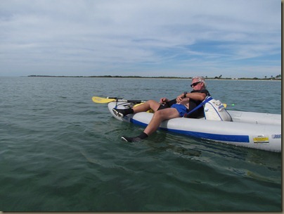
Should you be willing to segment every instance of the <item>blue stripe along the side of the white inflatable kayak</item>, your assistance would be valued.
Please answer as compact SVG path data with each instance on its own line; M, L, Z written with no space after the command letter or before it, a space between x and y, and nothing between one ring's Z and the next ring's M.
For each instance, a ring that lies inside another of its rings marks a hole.
M130 122L141 125L141 126L147 126L148 124L140 122L138 120L134 120L133 118L130 118ZM192 137L199 137L199 138L205 138L205 139L212 139L216 141L231 141L231 142L239 142L239 143L250 143L250 138L248 135L225 135L225 134L209 134L204 132L191 132L191 131L185 131L185 130L173 130L168 128L160 128L161 130L169 131L169 132L175 132L178 134L185 134Z

